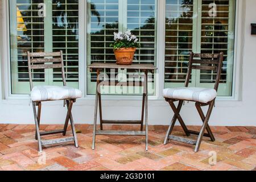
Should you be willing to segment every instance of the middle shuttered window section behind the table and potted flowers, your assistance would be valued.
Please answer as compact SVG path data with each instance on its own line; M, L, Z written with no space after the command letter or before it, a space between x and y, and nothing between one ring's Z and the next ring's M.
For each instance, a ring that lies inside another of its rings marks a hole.
M87 23L87 64L115 63L113 49L114 32L131 31L138 36L141 48L135 53L135 63L156 63L156 0L91 0L88 2ZM141 75L140 71L105 70L104 73L117 75L125 73ZM152 76L152 75L151 75ZM154 76L152 76L154 79ZM149 92L154 94L154 82L148 86ZM88 71L87 93L95 94L96 73ZM113 92L111 92L113 94ZM118 93L115 93L118 94ZM127 88L122 87L122 93L127 94Z

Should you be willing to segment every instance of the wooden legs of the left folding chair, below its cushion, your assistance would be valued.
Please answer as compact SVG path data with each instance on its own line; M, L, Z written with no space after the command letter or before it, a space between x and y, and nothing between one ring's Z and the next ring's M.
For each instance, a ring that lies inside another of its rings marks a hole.
M65 143L65 142L74 142L75 147L78 147L78 142L77 142L77 137L76 137L76 130L75 130L75 125L73 122L73 117L72 117L72 106L73 102L76 102L76 100L65 100L67 102L67 116L65 119L65 124L64 124L64 129L63 130L54 130L54 131L46 131L46 132L40 132L39 126L40 126L40 116L41 116L41 108L42 108L42 102L32 102L33 106L33 112L34 112L34 118L35 118L35 126L36 126L36 133L35 133L35 139L38 140L38 146L39 146L39 151L42 151L42 146L46 146L49 144L56 144L56 143ZM36 112L36 106L38 106L38 110ZM60 139L52 139L52 140L41 140L41 136L43 135L51 135L51 134L59 134L62 133L63 136L66 135L67 133L67 127L68 127L68 122L70 121L71 123L71 129L72 129L72 134L73 137L68 137L68 138L60 138Z

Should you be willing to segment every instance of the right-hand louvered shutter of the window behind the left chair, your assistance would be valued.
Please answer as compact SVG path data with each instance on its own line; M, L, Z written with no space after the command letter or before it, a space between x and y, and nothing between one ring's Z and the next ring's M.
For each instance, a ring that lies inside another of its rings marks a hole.
M79 84L79 0L52 1L52 48L63 51L68 86ZM62 84L61 69L53 69L53 82Z

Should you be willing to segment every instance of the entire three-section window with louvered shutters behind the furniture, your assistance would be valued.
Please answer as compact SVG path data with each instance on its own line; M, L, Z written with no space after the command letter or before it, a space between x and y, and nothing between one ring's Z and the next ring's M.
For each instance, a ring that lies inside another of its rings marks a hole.
M79 33L85 34L87 45L86 50L80 47L86 55L86 60L81 61L89 65L115 63L113 49L110 48L113 33L131 31L138 36L141 44L135 52L134 63L156 65L156 60L160 61L159 65L164 67L164 80L159 81L164 81L165 88L184 85L190 51L223 51L224 65L218 96L232 96L236 0L165 0L165 17L159 13L159 20L165 18L165 22L159 22L157 27L158 3L161 1L86 0L86 17L79 17L79 3L80 7L84 5L79 0L10 0L11 93L30 93L27 51L62 50L67 85L79 88L79 81L86 82L85 95L94 95L96 72L87 69L86 77L79 77L79 74L83 75L79 73L79 41L80 45L84 45L84 40L79 40ZM46 13L42 14L43 7ZM79 32L79 18L84 20L80 27L86 26L86 32ZM165 31L165 35L159 35L162 36L159 41L158 29ZM164 60L157 57L159 44L165 46ZM102 73L112 80L122 79L125 82L135 78L143 81L140 70L105 69ZM158 90L156 77L148 74L151 81L148 93L154 96ZM130 75L132 78L129 78ZM62 84L60 69L35 70L32 77L34 85ZM215 77L216 72L213 71L193 70L189 85L213 88ZM127 86L106 86L104 91L106 94L138 95L143 88L135 88L135 92L131 93Z

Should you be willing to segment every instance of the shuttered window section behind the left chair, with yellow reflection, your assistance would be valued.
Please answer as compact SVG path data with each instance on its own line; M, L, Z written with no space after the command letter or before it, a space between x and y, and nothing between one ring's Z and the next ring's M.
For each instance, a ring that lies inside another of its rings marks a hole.
M78 0L16 0L10 3L11 90L30 92L26 52L62 50L67 85L78 88ZM44 3L44 5L43 5ZM40 14L42 7L45 14ZM59 69L33 72L35 85L61 85Z

